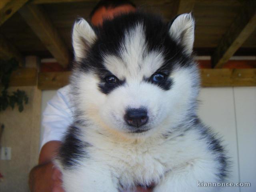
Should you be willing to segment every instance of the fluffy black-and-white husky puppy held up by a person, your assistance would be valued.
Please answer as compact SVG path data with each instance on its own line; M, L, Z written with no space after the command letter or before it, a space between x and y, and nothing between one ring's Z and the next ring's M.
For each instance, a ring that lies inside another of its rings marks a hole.
M196 114L194 19L135 12L72 34L75 122L56 166L66 192L208 192L227 176L224 148Z

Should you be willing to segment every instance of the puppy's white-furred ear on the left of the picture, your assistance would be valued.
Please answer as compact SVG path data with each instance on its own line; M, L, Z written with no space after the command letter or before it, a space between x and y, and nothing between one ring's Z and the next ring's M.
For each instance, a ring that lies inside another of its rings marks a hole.
M76 61L86 57L87 51L94 43L97 36L93 28L83 18L79 18L73 27L72 44Z

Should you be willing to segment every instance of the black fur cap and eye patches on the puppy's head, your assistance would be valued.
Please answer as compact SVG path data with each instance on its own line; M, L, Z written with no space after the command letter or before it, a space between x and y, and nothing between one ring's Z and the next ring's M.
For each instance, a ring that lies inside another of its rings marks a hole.
M82 69L85 72L93 72L98 76L100 79L98 88L104 94L109 94L126 83L125 79L117 79L114 84L106 82L108 76L114 76L115 74L112 74L104 66L104 56L113 55L122 59L120 50L124 44L124 39L126 39L126 32L134 29L137 24L141 24L143 27L142 33L146 44L146 52L141 54L145 57L150 52L161 52L164 57L162 67L151 77L144 77L144 81L155 84L163 90L170 90L174 83L173 79L169 77L173 68L176 65L188 66L191 63L188 62L190 58L183 54L182 46L170 37L170 26L161 17L141 12L118 16L111 21L105 21L102 27L94 28L97 39L82 61ZM139 67L141 68L141 66ZM156 82L152 80L152 77L158 73L165 75L164 81Z

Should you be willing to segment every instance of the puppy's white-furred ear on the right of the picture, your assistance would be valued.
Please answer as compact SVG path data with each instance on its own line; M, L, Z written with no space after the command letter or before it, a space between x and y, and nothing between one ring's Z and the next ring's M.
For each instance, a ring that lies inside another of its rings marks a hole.
M184 46L187 54L191 54L194 44L195 20L191 13L177 16L172 22L169 34L178 44Z

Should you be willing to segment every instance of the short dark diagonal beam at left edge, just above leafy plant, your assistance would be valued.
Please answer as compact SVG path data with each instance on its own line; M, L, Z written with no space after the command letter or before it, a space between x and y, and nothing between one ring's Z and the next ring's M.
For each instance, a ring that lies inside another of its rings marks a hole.
M15 57L20 66L24 64L22 54L2 34L0 34L0 57L4 59Z

